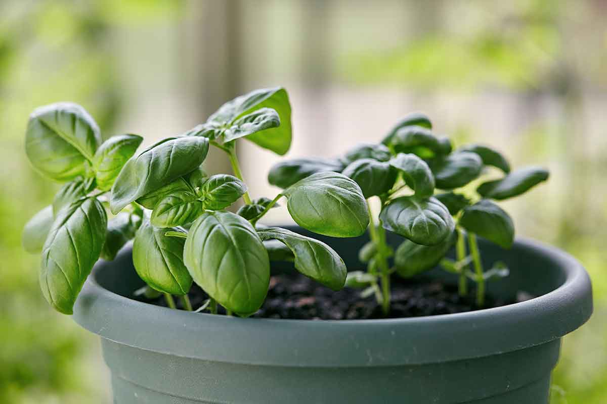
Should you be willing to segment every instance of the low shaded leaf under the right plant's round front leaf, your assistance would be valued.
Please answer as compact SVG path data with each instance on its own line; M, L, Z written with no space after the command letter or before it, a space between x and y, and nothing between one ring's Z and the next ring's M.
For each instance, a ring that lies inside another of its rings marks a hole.
M443 242L436 245L421 245L411 240L404 240L396 249L394 256L398 274L409 278L423 271L431 270L447 254L455 239L455 232L453 232Z

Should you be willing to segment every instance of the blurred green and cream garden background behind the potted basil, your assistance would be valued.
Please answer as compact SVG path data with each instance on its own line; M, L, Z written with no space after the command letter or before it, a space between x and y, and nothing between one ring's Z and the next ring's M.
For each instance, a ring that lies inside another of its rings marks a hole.
M30 111L78 102L104 136L149 144L272 85L290 92L290 157L378 141L424 111L458 143L549 167L548 184L504 205L520 236L578 257L594 283L594 317L563 343L553 403L607 402L607 2L1 0L1 403L110 402L97 339L50 309L38 257L21 249L22 226L58 188L25 158ZM253 196L273 196L279 157L246 142L240 154ZM217 153L208 167L229 172Z

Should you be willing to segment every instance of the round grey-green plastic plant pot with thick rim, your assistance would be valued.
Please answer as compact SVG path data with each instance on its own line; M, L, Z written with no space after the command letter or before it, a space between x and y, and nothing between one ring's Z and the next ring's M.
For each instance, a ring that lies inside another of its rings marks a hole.
M359 267L365 237L319 238L348 268ZM481 242L481 250L487 265L500 259L511 270L489 293L539 297L410 319L212 316L127 298L142 282L125 248L97 263L74 317L101 337L118 404L548 403L560 339L592 313L588 274L568 254L529 240L508 251ZM430 276L455 282L441 271Z

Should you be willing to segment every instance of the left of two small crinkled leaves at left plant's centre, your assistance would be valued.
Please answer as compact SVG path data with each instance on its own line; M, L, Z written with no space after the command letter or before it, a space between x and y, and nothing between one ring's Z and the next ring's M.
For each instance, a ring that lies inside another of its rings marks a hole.
M174 192L158 202L150 221L154 227L174 227L194 222L204 211L203 204L191 191Z

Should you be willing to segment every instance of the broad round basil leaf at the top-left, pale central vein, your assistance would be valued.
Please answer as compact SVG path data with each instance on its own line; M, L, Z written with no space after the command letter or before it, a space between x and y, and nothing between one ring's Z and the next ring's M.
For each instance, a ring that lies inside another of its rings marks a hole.
M68 102L36 108L25 133L25 153L36 170L67 181L86 171L101 143L99 127L83 107Z

